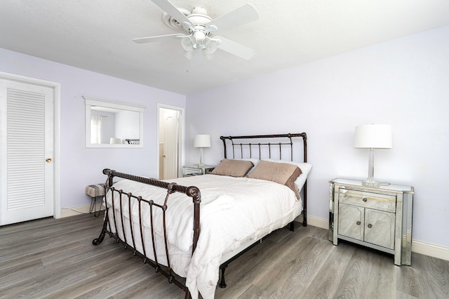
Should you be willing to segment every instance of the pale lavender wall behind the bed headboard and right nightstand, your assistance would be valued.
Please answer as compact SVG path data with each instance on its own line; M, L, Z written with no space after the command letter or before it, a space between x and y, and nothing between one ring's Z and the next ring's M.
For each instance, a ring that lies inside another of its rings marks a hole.
M375 151L375 179L415 187L413 239L449 247L449 27L407 36L187 97L187 143L210 134L308 134L308 214L328 219L328 181L365 179L358 124L391 124L393 148ZM197 152L186 156L197 160Z

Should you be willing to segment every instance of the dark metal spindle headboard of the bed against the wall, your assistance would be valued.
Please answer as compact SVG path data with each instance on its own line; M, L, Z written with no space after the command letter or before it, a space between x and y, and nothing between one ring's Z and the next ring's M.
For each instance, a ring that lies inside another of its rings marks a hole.
M302 138L302 147L298 148L295 138ZM225 150L225 159L280 159L294 161L302 153L303 162L307 162L307 134L287 133L276 135L221 136ZM227 146L229 144L229 147ZM228 155L229 152L229 155ZM232 154L232 155L231 155Z

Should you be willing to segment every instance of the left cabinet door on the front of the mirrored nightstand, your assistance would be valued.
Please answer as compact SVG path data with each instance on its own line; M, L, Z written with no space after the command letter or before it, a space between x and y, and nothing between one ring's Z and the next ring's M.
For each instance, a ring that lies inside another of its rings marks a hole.
M363 223L365 208L340 204L338 211L338 233L349 238L363 241Z

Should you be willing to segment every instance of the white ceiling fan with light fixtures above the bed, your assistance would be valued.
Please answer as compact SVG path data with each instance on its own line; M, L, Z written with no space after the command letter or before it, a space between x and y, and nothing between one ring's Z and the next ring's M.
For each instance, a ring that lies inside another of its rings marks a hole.
M243 59L253 58L255 51L215 33L252 22L259 18L254 6L245 4L234 11L221 15L218 18L210 18L205 8L196 6L192 12L177 8L168 0L152 0L165 13L163 20L167 25L175 29L182 29L186 33L165 34L158 36L142 37L133 39L138 44L152 43L155 41L166 41L169 39L180 39L181 46L186 51L185 56L192 62L201 62L203 56L212 58L213 53L220 49Z

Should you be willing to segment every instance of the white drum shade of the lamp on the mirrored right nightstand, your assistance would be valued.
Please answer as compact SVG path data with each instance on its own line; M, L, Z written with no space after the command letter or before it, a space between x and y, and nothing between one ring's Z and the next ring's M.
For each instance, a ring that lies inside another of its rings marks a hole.
M356 126L354 147L391 149L391 126L385 124L368 124Z

